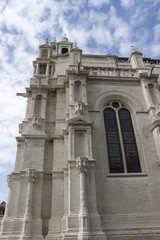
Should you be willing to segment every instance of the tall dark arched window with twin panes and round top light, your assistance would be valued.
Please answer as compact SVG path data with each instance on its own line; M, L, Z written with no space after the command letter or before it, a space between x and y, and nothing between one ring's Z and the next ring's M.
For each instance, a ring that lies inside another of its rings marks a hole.
M111 173L141 172L132 119L128 109L112 102L104 109Z

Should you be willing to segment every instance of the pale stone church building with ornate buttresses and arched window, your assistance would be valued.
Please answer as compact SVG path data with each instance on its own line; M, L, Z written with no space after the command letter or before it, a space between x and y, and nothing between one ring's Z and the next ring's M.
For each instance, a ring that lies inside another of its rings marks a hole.
M160 239L160 61L39 50L0 239Z

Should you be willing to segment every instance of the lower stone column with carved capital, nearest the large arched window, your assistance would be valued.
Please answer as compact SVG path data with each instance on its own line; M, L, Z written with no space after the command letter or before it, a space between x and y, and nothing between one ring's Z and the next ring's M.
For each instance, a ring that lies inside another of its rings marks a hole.
M79 220L80 220L80 230L78 239L89 239L89 214L87 207L87 191L86 191L86 172L88 167L88 159L78 157L76 159L76 166L80 173L80 211L79 211Z

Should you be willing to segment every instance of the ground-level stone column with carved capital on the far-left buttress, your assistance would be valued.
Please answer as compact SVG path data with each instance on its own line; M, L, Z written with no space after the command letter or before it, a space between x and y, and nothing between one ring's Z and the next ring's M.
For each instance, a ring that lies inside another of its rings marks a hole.
M26 198L26 211L24 214L24 222L23 222L23 230L22 230L22 238L31 236L32 230L32 193L33 193L33 183L37 177L37 171L34 169L27 169L26 171L26 179L28 182L27 187L27 198Z

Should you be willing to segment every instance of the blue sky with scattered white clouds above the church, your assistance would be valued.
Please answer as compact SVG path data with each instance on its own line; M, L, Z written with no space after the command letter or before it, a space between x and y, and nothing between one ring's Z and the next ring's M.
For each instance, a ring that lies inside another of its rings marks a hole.
M0 202L14 169L24 92L38 47L64 33L83 53L160 59L160 0L0 0Z

